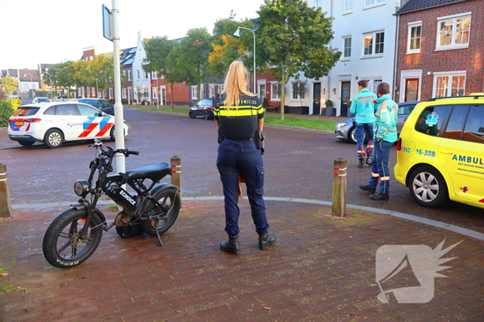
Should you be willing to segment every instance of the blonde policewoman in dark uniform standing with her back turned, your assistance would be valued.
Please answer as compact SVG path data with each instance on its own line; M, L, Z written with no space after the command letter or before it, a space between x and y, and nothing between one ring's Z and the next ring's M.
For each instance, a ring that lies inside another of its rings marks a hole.
M225 232L228 241L220 248L240 254L239 177L245 179L252 219L259 234L259 249L275 243L268 233L266 205L263 199L264 164L261 150L254 143L256 130L262 132L264 109L256 94L248 91L248 71L241 61L234 61L225 77L224 92L214 108L215 123L223 141L218 145L217 168L225 197ZM220 137L220 135L219 135ZM219 139L219 141L220 141Z

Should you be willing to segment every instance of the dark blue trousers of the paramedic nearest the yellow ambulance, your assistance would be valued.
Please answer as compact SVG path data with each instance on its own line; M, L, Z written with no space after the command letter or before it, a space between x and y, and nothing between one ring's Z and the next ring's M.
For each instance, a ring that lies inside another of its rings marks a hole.
M390 172L388 170L388 160L390 158L390 148L393 143L388 141L375 141L375 157L371 161L371 177L368 181L370 188L376 188L380 179L380 194L389 194Z

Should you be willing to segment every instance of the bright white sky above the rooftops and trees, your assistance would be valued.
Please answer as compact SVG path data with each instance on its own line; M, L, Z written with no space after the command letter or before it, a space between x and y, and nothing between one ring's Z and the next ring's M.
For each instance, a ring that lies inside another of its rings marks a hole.
M112 0L0 0L0 69L37 69L38 63L79 60L82 48L113 48L102 37L102 5ZM184 37L206 28L212 34L218 19L256 18L263 0L118 0L120 49L136 47L143 38ZM8 28L7 28L8 26Z

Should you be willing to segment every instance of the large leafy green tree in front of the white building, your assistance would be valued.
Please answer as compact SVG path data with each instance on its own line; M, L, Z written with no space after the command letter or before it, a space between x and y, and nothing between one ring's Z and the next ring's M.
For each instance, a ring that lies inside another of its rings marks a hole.
M263 43L267 63L276 66L281 81L281 119L284 119L286 83L297 72L308 78L324 77L341 52L328 47L333 39L331 17L303 0L265 0L259 10L258 41Z

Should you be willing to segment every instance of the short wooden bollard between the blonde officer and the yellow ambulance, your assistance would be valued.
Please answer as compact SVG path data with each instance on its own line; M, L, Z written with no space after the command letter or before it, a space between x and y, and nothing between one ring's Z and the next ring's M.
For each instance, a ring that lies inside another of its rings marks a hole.
M346 214L346 173L348 161L343 158L335 160L335 175L333 176L333 205L331 214L343 217Z

